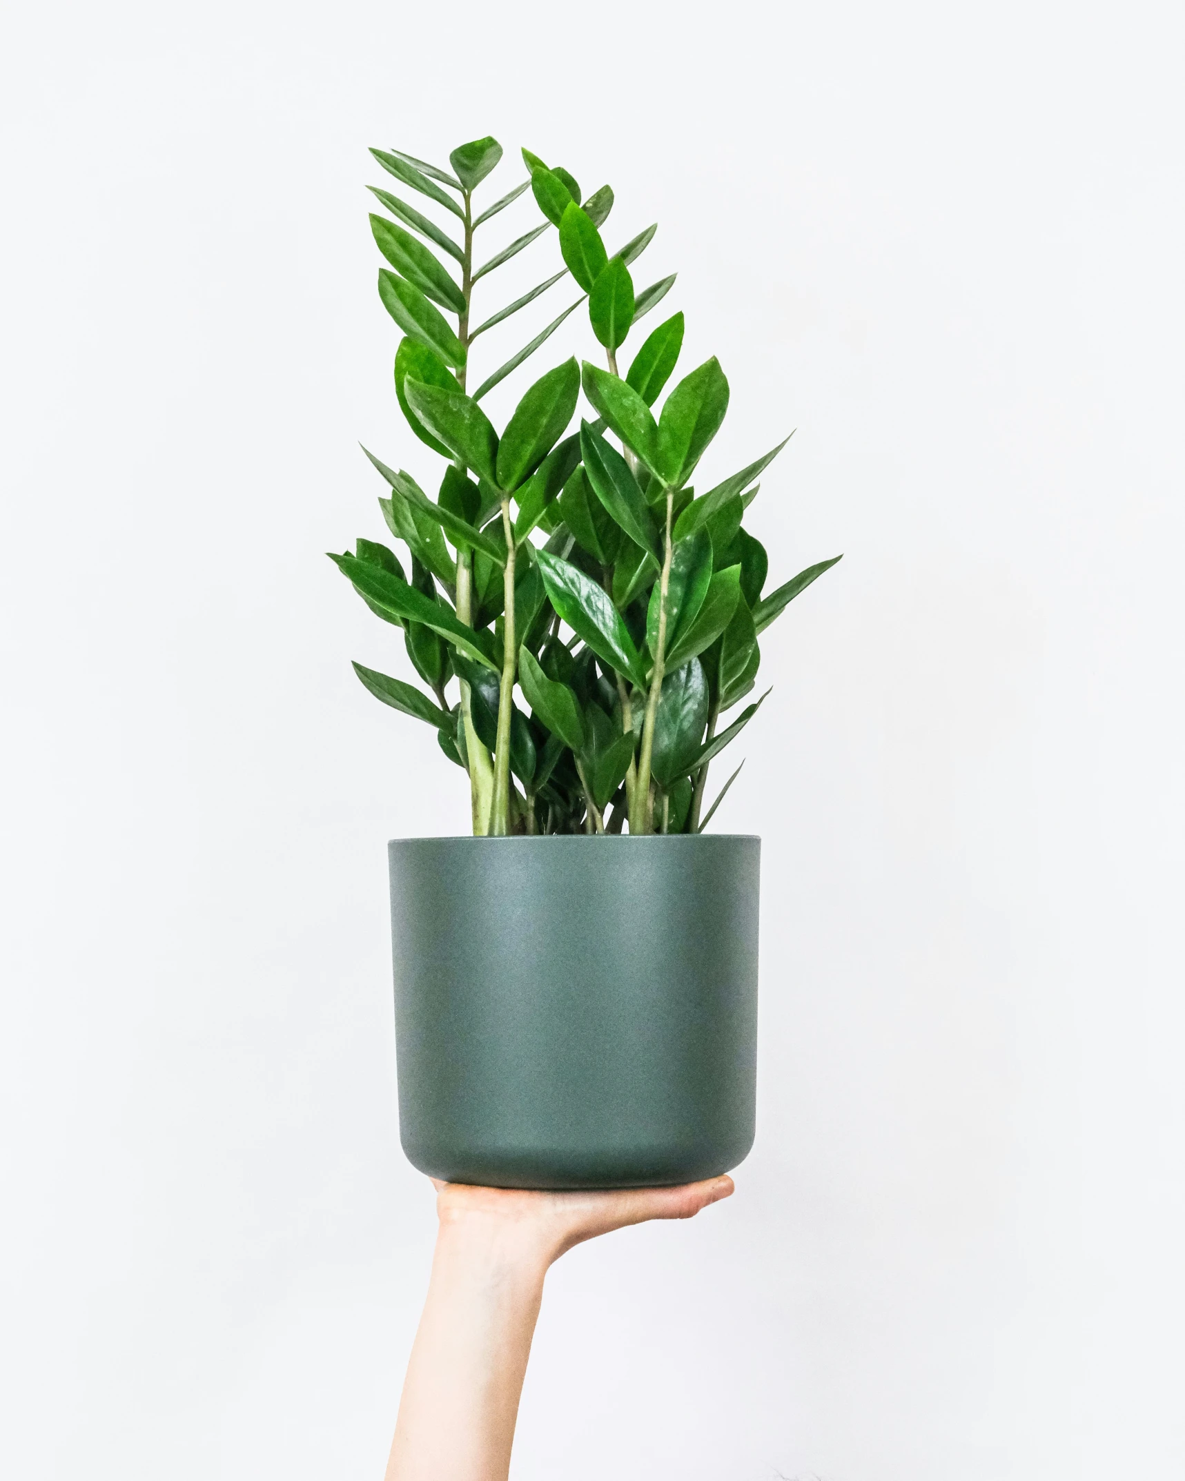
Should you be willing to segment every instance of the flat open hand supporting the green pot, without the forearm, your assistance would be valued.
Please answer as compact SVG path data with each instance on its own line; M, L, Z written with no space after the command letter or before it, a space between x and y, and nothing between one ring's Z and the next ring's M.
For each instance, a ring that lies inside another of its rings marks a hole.
M520 1188L474 1188L443 1183L437 1191L441 1237L493 1241L535 1257L544 1268L575 1244L650 1219L692 1219L727 1198L727 1174L678 1188L621 1188L592 1192L532 1192Z

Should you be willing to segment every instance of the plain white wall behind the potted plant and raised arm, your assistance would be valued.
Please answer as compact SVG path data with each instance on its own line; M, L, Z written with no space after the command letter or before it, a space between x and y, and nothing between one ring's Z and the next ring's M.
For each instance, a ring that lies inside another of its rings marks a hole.
M1167 3L9 10L6 1475L382 1474L433 1240L384 844L467 809L321 552L384 538L358 440L434 468L366 147L486 132L487 198L526 144L612 182L610 250L661 222L637 281L732 382L705 475L797 428L772 579L846 552L720 815L764 837L757 1148L554 1271L515 1478L1185 1474L1181 43Z

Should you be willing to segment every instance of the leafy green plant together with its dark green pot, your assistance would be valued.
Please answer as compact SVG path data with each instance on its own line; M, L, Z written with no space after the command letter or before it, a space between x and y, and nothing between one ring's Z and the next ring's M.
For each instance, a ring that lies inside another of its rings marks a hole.
M607 185L582 198L523 150L527 178L478 209L495 139L452 169L372 154L400 187L372 187L370 216L395 395L443 464L421 474L433 498L367 452L406 551L360 539L330 558L403 629L419 683L358 678L435 729L473 816L471 838L390 844L404 1151L502 1186L724 1171L754 1136L760 840L705 832L739 772L705 806L708 769L761 705L730 717L760 634L838 557L766 592L744 515L785 443L695 492L729 384L712 358L664 395L683 314L638 326L674 275L635 290L656 228L610 253ZM475 250L520 198L529 230ZM544 280L474 323L490 275L539 238L558 246ZM558 284L578 296L478 382L478 338ZM483 397L582 305L595 358L539 376L499 432Z

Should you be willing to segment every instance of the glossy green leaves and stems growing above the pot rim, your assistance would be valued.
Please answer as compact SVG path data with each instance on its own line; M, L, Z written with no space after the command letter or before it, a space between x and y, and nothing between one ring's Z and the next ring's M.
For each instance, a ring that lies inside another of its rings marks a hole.
M431 499L412 474L367 453L388 484L379 507L410 573L367 539L330 555L370 610L403 628L431 698L354 669L384 703L434 726L444 755L468 772L474 834L621 832L627 822L631 834L699 832L736 776L704 813L708 766L764 699L720 729L754 687L760 634L840 558L763 594L767 555L742 521L785 443L695 493L729 382L711 358L656 409L678 361L681 312L621 373L627 336L674 275L634 290L630 268L656 227L610 255L600 230L613 206L607 185L581 203L566 169L523 150L529 178L477 212L474 195L502 158L495 139L453 150L452 170L370 153L447 221L446 230L372 187L388 213L370 216L388 264L379 298L403 333L395 395L415 435L446 462ZM481 228L527 191L542 222L474 268ZM473 327L478 284L553 228L558 270ZM581 296L470 391L474 342L569 281ZM548 370L499 434L481 398L585 302L604 364L572 358ZM581 391L588 413L570 429Z

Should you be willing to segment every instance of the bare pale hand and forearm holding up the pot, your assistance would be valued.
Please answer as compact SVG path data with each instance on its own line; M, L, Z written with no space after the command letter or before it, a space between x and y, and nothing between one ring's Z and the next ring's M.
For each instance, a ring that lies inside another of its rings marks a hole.
M438 1231L385 1481L507 1481L544 1299L567 1250L649 1219L690 1219L730 1177L681 1188L521 1192L435 1183Z

